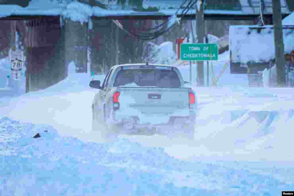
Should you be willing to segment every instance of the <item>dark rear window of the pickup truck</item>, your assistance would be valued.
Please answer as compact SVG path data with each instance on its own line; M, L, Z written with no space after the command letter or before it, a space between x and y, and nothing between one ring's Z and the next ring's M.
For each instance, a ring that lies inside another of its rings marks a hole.
M181 83L173 70L124 69L117 73L114 86L179 88Z

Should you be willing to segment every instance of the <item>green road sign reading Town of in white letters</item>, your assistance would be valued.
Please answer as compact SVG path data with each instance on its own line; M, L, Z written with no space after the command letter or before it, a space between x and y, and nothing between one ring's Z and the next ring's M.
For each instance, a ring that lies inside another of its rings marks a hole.
M183 61L218 60L218 46L213 43L182 43L180 53Z

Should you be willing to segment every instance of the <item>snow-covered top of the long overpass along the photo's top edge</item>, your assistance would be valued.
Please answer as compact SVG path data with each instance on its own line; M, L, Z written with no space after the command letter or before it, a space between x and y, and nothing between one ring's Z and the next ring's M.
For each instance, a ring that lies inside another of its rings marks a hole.
M272 14L271 0L265 1L265 14ZM285 0L281 1L281 11L283 14L289 14L288 6ZM0 4L0 17L7 16L32 16L32 15L48 15L48 16L67 16L75 21L85 21L85 18L91 16L170 16L175 14L184 1L180 0L145 0L142 5L126 1L122 6L118 5L118 0L96 0L100 6L88 6L77 1L67 0L31 0L27 7L18 5ZM205 14L220 15L259 15L259 1L251 0L235 0L236 6L228 6L229 4L218 1L216 6L208 7ZM188 2L186 2L187 4ZM186 5L184 4L184 5ZM214 5L213 4L213 5ZM220 5L221 8L218 8ZM226 7L227 6L227 7ZM141 10L143 9L143 10ZM141 11L140 11L141 10ZM181 13L182 9L178 13ZM195 14L195 9L188 11L188 15Z

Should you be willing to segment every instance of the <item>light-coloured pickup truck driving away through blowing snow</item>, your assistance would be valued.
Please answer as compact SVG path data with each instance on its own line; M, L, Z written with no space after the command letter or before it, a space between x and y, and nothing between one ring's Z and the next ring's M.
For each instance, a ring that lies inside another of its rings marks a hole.
M197 113L196 94L187 88L176 67L156 64L113 66L93 104L93 130L105 135L169 133L193 138Z

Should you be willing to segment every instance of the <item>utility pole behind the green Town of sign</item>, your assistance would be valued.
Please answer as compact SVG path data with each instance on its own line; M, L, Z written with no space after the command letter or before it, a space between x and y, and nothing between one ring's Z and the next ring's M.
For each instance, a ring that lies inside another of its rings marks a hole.
M202 0L198 0L200 2L200 9L198 10L196 5L196 22L197 22L197 39L198 43L203 43L203 39L205 36L205 23L203 19L203 6L202 6ZM203 61L197 61L197 78L199 84L197 86L204 86L204 66Z

